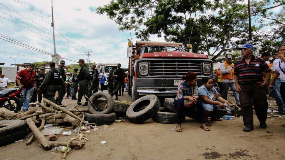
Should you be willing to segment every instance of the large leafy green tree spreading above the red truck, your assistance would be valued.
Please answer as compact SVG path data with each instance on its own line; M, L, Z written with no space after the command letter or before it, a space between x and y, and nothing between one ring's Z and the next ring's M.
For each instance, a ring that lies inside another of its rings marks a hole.
M107 14L119 24L119 30L134 29L141 40L149 41L154 34L164 35L166 41L192 44L196 53L218 56L236 48L234 39L248 38L247 4L242 2L116 0L98 7L97 13ZM207 11L213 14L206 15Z

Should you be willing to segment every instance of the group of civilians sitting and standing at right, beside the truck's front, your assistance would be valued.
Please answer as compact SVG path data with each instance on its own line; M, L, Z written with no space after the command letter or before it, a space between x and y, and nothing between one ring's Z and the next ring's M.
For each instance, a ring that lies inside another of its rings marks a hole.
M221 108L230 106L230 102L227 101L229 88L236 103L241 107L245 126L243 131L250 132L254 129L253 106L260 128L267 128L267 92L275 98L279 113L285 114L285 45L281 45L274 55L265 52L261 57L253 55L254 47L249 43L238 50L241 51L241 59L233 64L232 56L227 55L220 68L213 71L212 77L203 78L203 85L199 88L196 73L189 71L182 77L173 102L177 108L177 132L182 131L183 114L199 120L200 127L206 131L210 131L208 127L211 126L208 117L211 121L222 121L217 115ZM266 63L268 60L269 65Z

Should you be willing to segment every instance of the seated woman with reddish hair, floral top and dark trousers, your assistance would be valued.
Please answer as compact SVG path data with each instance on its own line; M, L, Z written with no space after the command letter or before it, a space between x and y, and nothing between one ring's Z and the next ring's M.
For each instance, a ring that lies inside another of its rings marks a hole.
M185 108L184 100L192 102L193 105L189 108ZM187 117L199 119L201 122L200 127L205 131L210 131L204 124L204 111L202 101L198 96L197 74L195 72L187 72L186 75L182 76L182 81L178 85L177 96L173 101L173 105L177 108L177 132L182 131L181 119L183 112Z

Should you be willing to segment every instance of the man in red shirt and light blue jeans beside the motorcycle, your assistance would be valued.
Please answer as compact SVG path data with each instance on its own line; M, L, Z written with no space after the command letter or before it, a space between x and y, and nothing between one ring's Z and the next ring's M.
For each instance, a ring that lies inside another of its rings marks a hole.
M30 64L28 68L20 71L16 76L18 86L23 87L23 90L21 92L24 98L24 104L22 108L23 112L28 110L29 103L32 99L34 92L34 78L36 77L34 67L34 64Z

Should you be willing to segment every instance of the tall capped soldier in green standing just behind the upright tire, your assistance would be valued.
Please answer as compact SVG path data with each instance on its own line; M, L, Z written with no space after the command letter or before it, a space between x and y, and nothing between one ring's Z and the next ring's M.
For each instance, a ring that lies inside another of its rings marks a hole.
M78 63L79 63L79 66L81 66L81 69L77 77L78 85L79 85L77 104L81 105L82 96L86 95L89 97L88 85L91 80L91 75L89 73L89 68L85 65L84 59L79 59ZM88 101L88 99L86 99L86 101ZM88 102L85 102L82 106L87 106L87 104Z

